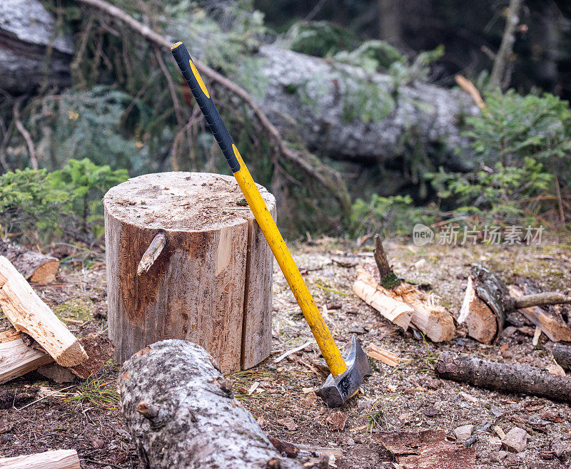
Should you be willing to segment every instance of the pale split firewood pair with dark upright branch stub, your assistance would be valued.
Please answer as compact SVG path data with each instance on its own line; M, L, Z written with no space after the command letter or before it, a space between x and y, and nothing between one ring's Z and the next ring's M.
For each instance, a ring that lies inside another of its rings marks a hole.
M353 292L360 299L405 330L413 324L432 341L448 341L455 336L453 316L438 304L435 295L423 292L395 275L378 234L375 236L375 262L379 282L365 267L357 269Z

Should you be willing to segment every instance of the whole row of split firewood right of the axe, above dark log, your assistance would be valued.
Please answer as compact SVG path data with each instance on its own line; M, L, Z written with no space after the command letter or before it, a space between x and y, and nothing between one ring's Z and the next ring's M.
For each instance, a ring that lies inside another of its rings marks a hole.
M551 341L571 341L571 329L560 314L560 304L571 303L569 295L538 292L530 282L508 286L490 269L473 264L463 304L455 318L440 306L435 294L397 277L378 235L375 263L377 269L373 264L357 268L353 292L393 324L404 330L417 329L434 342L453 339L458 334L458 324L465 334L482 344L495 343L514 313L521 314L537 328L537 334L543 333Z

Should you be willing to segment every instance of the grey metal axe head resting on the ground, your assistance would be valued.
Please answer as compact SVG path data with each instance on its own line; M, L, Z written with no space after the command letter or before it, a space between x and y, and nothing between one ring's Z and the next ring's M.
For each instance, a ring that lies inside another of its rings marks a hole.
M351 338L351 349L345 364L347 371L338 376L329 375L318 391L319 396L329 407L343 406L348 398L358 391L365 376L373 374L369 360L356 336Z

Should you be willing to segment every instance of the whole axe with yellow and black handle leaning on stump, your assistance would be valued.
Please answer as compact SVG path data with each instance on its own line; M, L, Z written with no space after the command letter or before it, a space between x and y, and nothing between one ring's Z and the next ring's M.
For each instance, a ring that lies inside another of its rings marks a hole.
M283 272L285 279L290 286L295 299L298 301L305 320L315 337L321 354L330 371L330 375L325 384L318 391L323 401L330 407L342 406L345 401L358 392L363 378L369 376L372 371L365 352L361 348L355 336L351 339L351 349L347 359L343 359L333 336L323 321L315 301L311 296L308 287L303 281L295 261L291 256L285 241L274 222L271 213L266 207L266 202L256 187L248 168L244 164L238 148L234 145L226 125L224 125L216 105L206 89L196 66L194 65L186 46L177 42L171 46L173 57L178 63L178 67L183 73L183 77L191 88L196 103L201 108L208 128L213 133L222 153L226 157L228 165L233 172L236 181L240 186L246 202L250 206L256 222L260 226L264 237L268 241L273 255Z

